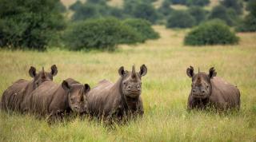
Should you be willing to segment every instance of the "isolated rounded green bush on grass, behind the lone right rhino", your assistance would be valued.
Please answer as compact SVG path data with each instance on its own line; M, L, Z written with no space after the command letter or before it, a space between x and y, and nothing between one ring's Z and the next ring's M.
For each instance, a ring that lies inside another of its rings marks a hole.
M185 45L233 45L238 43L238 37L222 21L214 20L191 30L184 42Z

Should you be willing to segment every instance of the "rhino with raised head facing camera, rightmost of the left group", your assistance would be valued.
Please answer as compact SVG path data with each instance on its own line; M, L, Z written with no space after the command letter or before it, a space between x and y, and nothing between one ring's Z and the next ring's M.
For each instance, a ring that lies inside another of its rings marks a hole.
M120 67L120 78L116 83L100 81L88 94L88 108L91 116L107 119L122 119L129 114L143 115L142 76L147 73L146 65L142 65L138 73L133 66L132 72Z

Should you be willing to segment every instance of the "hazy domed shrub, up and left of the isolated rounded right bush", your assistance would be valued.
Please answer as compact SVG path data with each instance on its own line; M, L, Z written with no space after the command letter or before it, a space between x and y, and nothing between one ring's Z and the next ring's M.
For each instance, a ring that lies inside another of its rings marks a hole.
M189 28L195 25L195 19L185 10L175 10L167 19L167 28Z

